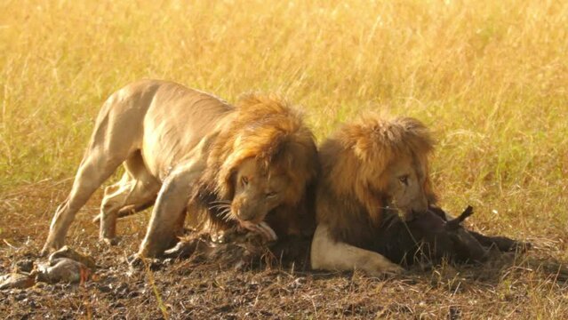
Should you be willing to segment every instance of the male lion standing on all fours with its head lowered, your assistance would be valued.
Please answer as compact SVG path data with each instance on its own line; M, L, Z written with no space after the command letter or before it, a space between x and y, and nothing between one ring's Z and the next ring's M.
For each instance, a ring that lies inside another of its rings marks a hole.
M100 207L100 240L114 243L119 212L155 204L140 256L172 245L188 204L207 209L214 223L237 223L269 239L301 232L309 221L316 145L284 101L251 95L233 107L180 84L144 80L112 94L100 110L44 253L64 244L76 212L121 164L124 176L106 188ZM276 232L265 218L278 221Z

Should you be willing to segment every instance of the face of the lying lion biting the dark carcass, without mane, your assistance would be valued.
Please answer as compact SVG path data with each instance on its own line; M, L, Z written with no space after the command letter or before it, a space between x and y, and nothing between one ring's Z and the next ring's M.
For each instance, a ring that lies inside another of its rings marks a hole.
M383 173L387 181L388 205L398 210L404 220L428 210L424 190L426 166L415 156L401 156Z

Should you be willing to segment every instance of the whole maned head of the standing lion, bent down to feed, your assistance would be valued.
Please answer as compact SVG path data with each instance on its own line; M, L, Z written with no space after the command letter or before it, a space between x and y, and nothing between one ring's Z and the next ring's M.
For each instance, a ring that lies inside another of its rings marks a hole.
M271 215L294 224L308 214L306 191L317 172L316 144L301 116L275 96L248 95L212 144L202 198L209 195L213 219L257 224Z

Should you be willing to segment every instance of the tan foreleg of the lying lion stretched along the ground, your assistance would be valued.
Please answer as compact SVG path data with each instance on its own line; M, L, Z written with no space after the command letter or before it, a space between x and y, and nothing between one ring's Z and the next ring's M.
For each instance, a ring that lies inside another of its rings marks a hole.
M369 276L399 273L404 269L377 252L332 239L325 225L318 225L311 248L311 267L314 269L348 271L361 269Z

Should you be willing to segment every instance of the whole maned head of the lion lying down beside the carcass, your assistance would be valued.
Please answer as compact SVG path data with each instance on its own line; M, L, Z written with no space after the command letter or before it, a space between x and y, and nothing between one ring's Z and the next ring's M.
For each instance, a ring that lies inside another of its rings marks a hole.
M372 227L384 210L405 220L426 212L435 201L428 179L432 149L426 126L410 117L368 115L344 125L320 148L318 220L337 229L356 220Z

